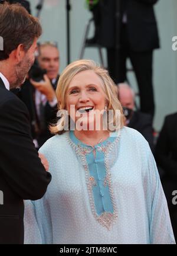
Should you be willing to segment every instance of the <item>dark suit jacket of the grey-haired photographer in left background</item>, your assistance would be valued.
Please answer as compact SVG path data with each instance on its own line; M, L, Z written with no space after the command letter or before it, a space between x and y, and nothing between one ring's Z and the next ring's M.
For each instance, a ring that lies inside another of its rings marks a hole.
M58 78L53 84L53 88L56 89ZM30 122L31 122L31 132L33 139L37 139L39 148L50 139L52 136L48 126L51 123L56 123L57 120L57 105L51 107L50 104L46 103L45 106L42 106L43 122L41 124L40 117L37 115L36 105L35 105L35 88L32 86L29 80L26 80L24 85L21 87L21 91L18 94L18 97L25 103L30 113Z

